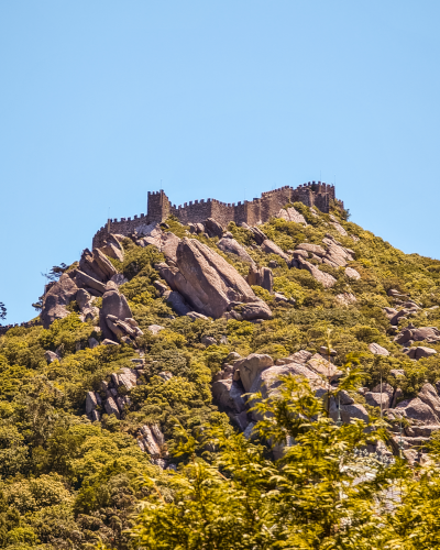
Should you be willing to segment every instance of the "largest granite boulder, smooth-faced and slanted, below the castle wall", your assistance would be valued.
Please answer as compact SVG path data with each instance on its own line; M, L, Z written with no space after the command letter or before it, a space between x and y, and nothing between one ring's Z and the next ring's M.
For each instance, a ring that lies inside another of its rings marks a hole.
M161 276L197 312L218 319L240 304L257 304L270 316L249 284L223 257L195 239L184 238L176 252L176 266L157 264ZM243 316L244 318L244 316Z

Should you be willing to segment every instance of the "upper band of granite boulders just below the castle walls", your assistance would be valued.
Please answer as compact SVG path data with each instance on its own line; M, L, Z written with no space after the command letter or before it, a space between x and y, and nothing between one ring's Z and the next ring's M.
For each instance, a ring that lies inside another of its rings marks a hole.
M278 216L306 224L304 217L293 207L282 209ZM354 252L330 234L326 234L323 245L302 243L295 251L284 252L258 228L246 223L242 223L242 227L251 232L255 241L254 248L279 256L292 268L307 270L324 287L333 286L336 278L321 271L317 263L345 267L349 278L360 278L355 270L346 266L353 260ZM157 280L155 286L177 315L188 315L193 319L205 316L249 321L272 318L267 304L251 288L252 285L258 285L274 294L271 267L258 267L246 249L217 220L208 218L202 223L190 223L189 231L193 234L218 238L219 251L234 254L241 262L249 264L246 278L213 248L190 237L179 239L166 229L165 223L152 223L143 228L142 234L130 237L136 245L155 246L164 254L165 262L155 265L163 280ZM45 328L55 319L66 317L69 314L68 304L76 300L84 321L94 320L99 315L99 327L106 340L129 343L142 336L124 296L118 290L127 279L111 262L111 258L123 261L122 239L122 235L109 234L101 248L91 252L86 249L77 267L47 286L41 315ZM311 260L316 262L311 263ZM276 266L275 261L271 264ZM102 297L100 310L94 306L96 297ZM288 302L279 293L275 293L274 297L277 301ZM341 301L345 302L353 298L340 296Z

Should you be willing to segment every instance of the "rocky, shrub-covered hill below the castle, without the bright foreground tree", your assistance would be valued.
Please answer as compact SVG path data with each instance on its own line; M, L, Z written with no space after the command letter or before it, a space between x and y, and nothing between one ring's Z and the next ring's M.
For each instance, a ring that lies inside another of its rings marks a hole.
M172 498L182 430L229 426L252 441L266 421L255 404L286 375L338 426L383 419L387 436L362 452L427 460L439 261L348 221L341 202L287 204L254 227L169 216L100 244L46 286L36 319L0 337L4 544L131 548L123 531L151 494L139 476ZM341 391L355 365L361 384ZM283 460L292 441L264 446Z

